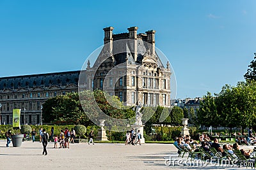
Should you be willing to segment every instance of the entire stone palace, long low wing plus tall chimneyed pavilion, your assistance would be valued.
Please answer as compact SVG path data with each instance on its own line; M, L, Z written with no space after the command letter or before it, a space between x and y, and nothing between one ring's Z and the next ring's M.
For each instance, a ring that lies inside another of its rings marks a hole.
M130 27L129 32L113 34L113 27L104 28L104 48L83 71L0 78L1 124L12 124L15 108L22 110L21 124L40 124L42 104L50 97L77 92L78 86L106 90L126 106L140 101L143 106L170 107L170 64L163 64L155 50L156 31L137 30Z

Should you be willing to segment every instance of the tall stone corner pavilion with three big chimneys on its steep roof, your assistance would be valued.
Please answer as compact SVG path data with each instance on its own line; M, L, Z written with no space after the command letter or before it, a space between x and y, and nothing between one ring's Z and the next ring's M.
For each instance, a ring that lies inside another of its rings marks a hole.
M106 90L127 106L141 101L170 107L170 64L164 67L156 53L156 31L137 34L138 27L130 27L113 34L113 29L104 28L104 48L92 67L88 61L85 88Z

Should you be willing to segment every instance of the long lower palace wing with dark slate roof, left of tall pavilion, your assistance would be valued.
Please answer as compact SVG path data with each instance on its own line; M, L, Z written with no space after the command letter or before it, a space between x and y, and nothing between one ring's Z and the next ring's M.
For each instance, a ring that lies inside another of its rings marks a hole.
M68 71L0 78L1 124L12 124L13 109L21 109L21 124L24 121L40 124L42 104L50 97L77 92L79 73Z

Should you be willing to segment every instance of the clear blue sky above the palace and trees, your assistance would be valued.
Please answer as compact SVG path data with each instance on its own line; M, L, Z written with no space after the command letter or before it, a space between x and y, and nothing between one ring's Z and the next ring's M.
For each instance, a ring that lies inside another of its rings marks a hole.
M220 92L243 81L256 52L256 1L3 1L0 76L79 70L114 33L156 30L177 97Z

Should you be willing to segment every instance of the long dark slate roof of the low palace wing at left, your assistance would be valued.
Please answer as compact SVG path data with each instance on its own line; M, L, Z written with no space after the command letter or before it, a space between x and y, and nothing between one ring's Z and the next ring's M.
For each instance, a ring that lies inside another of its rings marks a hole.
M0 78L0 90L50 87L51 85L77 85L79 73L80 71L66 71L58 73L2 77Z

